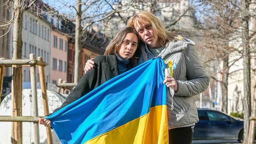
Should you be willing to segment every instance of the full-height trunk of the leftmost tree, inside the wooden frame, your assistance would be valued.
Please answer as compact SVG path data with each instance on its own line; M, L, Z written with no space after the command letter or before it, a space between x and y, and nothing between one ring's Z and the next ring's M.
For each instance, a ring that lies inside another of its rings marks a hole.
M14 0L13 59L22 54L22 10L20 0ZM22 66L12 66L12 116L22 116ZM22 122L12 122L12 144L22 144Z

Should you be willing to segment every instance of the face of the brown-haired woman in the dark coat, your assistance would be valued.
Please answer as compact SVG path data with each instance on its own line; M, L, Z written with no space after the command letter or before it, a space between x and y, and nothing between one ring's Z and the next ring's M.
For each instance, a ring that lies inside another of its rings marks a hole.
M117 53L124 59L128 60L131 58L138 46L138 37L135 33L127 33L123 40L123 43L117 50Z

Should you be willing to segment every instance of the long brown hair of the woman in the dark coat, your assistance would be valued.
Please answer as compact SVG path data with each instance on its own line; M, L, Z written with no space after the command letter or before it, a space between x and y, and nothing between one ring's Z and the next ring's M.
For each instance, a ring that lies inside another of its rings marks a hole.
M140 41L140 36L138 32L130 26L126 26L122 29L120 29L115 37L108 43L104 55L112 54L117 55L117 51L119 50L120 46L124 43L124 39L128 33L135 33L138 42ZM129 66L135 67L138 61L138 58L140 57L141 51L139 45L137 45L137 49L134 53L134 55L130 58Z

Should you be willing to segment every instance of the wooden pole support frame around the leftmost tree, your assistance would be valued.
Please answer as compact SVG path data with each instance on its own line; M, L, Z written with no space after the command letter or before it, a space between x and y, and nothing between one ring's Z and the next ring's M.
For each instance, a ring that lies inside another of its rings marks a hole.
M39 70L40 84L43 96L44 115L49 113L47 88L45 81L44 67L47 63L42 57L35 59L35 54L30 54L29 59L0 59L0 97L3 85L3 75L5 67L18 69L12 71L12 114L11 116L0 116L0 121L12 122L12 144L22 144L22 122L33 122L34 127L34 144L40 144L39 124L38 124L38 106L37 106L37 85L36 85L36 67ZM31 93L32 93L32 116L22 116L22 67L30 67ZM15 73L17 72L17 73ZM1 100L1 99L0 99ZM0 101L1 102L1 101ZM41 116L44 117L44 116ZM46 127L47 143L52 144L51 128Z

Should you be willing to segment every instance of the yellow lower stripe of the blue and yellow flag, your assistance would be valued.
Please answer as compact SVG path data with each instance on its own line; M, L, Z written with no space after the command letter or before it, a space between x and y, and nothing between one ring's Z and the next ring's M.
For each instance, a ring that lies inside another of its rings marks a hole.
M84 144L168 144L167 106L150 112Z

